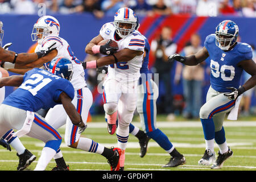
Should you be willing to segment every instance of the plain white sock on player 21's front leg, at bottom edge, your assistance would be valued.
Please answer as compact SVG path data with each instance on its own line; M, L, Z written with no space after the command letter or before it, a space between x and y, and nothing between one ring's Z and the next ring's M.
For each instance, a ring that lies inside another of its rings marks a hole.
M44 147L34 171L44 171L55 154L56 151L52 148Z

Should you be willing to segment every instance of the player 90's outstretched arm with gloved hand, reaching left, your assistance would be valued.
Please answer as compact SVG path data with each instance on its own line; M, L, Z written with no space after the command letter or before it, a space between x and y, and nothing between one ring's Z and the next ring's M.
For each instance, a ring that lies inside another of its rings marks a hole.
M170 62L176 60L185 65L193 66L193 65L200 64L205 59L207 59L207 57L209 57L209 53L207 51L207 48L203 47L200 51L195 53L195 55L189 55L189 56L183 57L175 53L174 55L171 55L168 60Z

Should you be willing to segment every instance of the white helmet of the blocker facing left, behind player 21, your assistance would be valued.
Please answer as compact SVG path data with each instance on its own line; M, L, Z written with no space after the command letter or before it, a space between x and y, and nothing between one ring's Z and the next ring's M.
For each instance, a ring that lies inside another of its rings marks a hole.
M32 41L43 40L48 35L59 36L60 32L60 23L53 16L42 16L38 19L38 21L34 24L31 38ZM42 35L39 37L38 35Z

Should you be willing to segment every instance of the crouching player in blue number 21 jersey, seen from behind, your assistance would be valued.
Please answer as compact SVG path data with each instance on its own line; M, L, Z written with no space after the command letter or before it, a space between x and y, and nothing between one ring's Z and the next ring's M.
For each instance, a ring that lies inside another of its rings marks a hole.
M57 57L51 61L48 71L35 68L25 75L0 79L0 87L19 86L0 106L0 137L10 129L16 129L18 131L14 135L18 137L28 135L46 143L35 171L46 169L62 140L57 130L36 111L63 104L72 123L79 127L79 132L86 128L71 102L75 92L69 82L73 73L71 61Z

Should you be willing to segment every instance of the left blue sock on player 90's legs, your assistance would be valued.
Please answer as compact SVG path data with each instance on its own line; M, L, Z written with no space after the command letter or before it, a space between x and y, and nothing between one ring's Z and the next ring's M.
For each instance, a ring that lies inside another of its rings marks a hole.
M201 119L201 118L200 118ZM214 138L214 122L213 119L201 119L201 123L203 125L203 131L204 131L204 139L205 140L211 140Z

